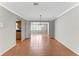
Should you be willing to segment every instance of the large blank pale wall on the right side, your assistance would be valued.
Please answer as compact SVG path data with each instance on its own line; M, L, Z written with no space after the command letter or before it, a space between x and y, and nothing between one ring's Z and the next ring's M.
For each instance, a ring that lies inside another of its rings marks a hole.
M79 6L55 21L55 38L79 55Z

